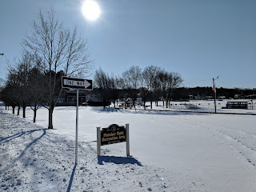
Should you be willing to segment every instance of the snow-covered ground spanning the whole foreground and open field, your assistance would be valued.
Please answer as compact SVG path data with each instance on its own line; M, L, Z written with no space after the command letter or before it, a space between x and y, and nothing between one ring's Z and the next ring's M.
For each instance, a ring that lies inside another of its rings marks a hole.
M54 130L44 108L35 124L0 111L0 191L256 191L255 115L81 106L74 166L75 107L55 108ZM130 124L130 158L126 143L96 154L96 127L114 123Z

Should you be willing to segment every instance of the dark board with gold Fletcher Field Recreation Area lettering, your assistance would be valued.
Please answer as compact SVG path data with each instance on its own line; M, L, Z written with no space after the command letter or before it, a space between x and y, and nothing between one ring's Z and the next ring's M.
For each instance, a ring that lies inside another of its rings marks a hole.
M112 124L101 130L101 146L106 146L118 142L126 142L126 128Z

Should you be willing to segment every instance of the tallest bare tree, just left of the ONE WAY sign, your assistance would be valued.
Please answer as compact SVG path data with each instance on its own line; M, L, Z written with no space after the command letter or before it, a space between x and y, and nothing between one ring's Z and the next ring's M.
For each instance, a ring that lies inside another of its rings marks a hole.
M92 62L86 41L78 35L76 28L71 32L58 22L54 10L50 10L46 17L40 11L32 27L32 33L26 35L22 46L35 57L42 58L38 68L48 74L45 99L49 110L48 128L52 129L54 106L62 94L62 88L57 90L58 71L63 71L66 76L86 77L92 69Z

